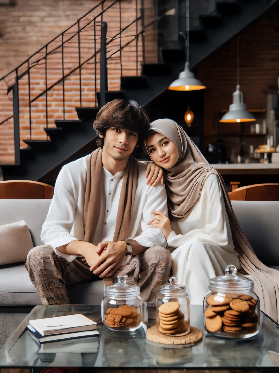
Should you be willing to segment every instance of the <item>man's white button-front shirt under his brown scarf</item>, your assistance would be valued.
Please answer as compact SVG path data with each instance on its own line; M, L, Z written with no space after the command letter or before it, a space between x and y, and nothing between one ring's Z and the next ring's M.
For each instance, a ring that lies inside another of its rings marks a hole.
M84 240L84 196L89 156L62 167L47 219L42 226L42 242L53 247L58 255L68 261L73 261L76 256L61 253L57 247L75 239ZM131 213L130 234L126 238L135 239L144 247L166 247L167 242L161 230L147 225L154 216L151 211L162 211L167 216L166 189L160 183L155 188L146 185L147 167L141 162L138 165L138 185ZM113 240L123 176L124 171L112 175L105 167L102 175L96 175L102 177L100 216L92 242L96 246L99 242Z

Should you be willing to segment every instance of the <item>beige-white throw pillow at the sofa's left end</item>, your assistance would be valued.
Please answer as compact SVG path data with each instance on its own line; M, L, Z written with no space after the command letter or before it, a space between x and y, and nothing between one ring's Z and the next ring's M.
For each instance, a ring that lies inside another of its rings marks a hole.
M0 265L26 261L33 248L28 226L24 220L0 225Z

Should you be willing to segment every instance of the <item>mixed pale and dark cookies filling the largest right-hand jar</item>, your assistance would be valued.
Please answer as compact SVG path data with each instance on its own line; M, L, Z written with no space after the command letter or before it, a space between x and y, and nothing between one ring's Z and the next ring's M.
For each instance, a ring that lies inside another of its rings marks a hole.
M238 333L244 330L252 333L258 323L258 316L254 312L257 301L247 294L212 294L206 303L204 316L205 327L209 332L223 330L228 333Z

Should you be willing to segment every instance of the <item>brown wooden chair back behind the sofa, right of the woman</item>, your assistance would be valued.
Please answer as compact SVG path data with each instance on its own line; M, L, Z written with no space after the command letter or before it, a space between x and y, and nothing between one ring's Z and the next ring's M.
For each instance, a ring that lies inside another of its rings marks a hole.
M229 193L231 201L279 201L279 184L241 186Z

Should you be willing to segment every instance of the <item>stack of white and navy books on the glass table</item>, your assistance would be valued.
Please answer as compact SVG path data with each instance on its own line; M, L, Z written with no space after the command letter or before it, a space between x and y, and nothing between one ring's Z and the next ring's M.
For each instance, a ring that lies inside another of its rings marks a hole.
M28 334L40 346L38 352L96 352L97 323L82 314L29 320Z

